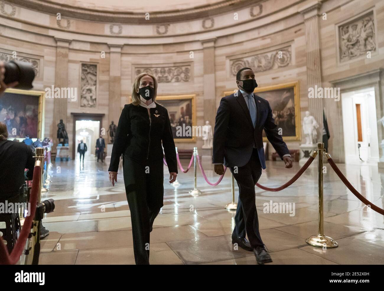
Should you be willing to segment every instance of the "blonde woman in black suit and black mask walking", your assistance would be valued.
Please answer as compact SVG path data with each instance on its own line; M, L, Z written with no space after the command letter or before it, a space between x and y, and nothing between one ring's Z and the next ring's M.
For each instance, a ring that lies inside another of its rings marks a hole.
M120 156L125 190L131 211L133 250L136 265L149 264L149 233L163 206L163 150L170 173L177 177L177 161L168 111L157 104L157 81L141 73L132 88L132 103L126 104L113 143L109 180L117 182Z

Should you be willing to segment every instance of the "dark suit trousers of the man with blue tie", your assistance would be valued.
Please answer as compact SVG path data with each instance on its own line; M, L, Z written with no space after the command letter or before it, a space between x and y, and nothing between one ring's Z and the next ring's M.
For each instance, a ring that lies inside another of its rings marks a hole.
M239 187L239 199L235 215L235 228L232 237L240 236L248 240L254 248L264 245L259 232L259 220L257 217L255 201L255 184L262 175L262 166L257 154L253 149L250 160L242 167L230 168L233 177Z

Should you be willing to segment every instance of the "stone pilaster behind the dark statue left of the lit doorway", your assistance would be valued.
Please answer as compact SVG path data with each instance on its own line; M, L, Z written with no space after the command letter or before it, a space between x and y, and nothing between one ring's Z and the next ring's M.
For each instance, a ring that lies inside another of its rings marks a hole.
M63 38L55 38L57 43L56 48L56 69L55 69L55 88L66 88L68 87L68 52L71 40ZM50 99L47 99L50 100ZM51 99L52 100L52 99ZM52 137L54 147L57 146L58 140L56 139L57 124L60 119L63 119L65 129L67 128L67 98L55 98L53 107L53 130ZM71 130L70 130L71 131ZM68 141L71 143L70 141Z

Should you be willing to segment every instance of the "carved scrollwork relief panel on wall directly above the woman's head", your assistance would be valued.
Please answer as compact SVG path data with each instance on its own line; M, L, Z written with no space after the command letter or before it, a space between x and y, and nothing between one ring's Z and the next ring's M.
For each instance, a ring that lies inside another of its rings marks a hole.
M190 65L169 66L157 68L135 68L136 76L141 73L152 74L158 83L188 82L190 80Z

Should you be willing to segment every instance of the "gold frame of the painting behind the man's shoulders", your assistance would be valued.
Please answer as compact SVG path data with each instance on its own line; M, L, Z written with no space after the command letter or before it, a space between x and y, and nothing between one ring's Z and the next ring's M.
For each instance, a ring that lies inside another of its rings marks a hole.
M299 81L288 82L283 84L265 86L265 87L257 87L253 91L256 95L260 96L257 93L277 91L281 89L292 89L293 90L293 100L294 100L294 108L295 108L295 135L293 136L283 136L284 141L301 141L301 117L300 117L300 96L299 96ZM223 92L224 96L230 95L233 91L225 91ZM262 96L260 96L262 97ZM263 98L263 97L262 97ZM268 100L269 101L269 100ZM272 106L271 106L272 107ZM273 108L272 108L273 110ZM267 141L267 138L263 136L263 141Z

